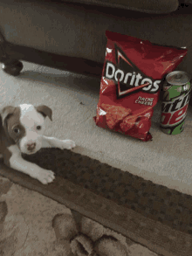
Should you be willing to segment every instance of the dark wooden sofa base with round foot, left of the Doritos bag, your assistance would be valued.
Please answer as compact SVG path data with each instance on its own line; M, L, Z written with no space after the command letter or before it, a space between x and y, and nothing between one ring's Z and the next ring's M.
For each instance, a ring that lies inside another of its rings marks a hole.
M20 60L97 78L100 78L102 74L103 64L92 60L61 56L7 42L1 46L0 62L3 63L3 71L10 75L17 76L21 72L23 65Z

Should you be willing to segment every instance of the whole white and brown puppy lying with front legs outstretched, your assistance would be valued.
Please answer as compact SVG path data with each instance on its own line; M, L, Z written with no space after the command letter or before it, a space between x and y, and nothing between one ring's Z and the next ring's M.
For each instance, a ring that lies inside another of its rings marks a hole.
M71 140L58 140L46 137L45 117L51 119L50 107L41 105L34 107L22 104L18 107L3 107L0 130L0 153L4 163L15 169L38 179L39 182L51 183L55 178L51 170L40 168L34 163L29 163L22 158L21 153L34 154L41 148L72 149L75 143Z

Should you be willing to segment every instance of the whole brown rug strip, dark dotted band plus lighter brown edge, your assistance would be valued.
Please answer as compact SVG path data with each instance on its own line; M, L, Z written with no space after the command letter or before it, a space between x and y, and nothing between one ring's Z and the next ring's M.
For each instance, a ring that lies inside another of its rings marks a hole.
M24 158L53 170L54 183L43 185L3 163L0 175L65 204L155 253L191 255L191 196L70 150L41 149Z

